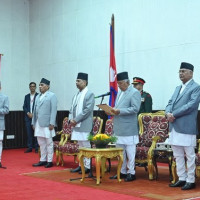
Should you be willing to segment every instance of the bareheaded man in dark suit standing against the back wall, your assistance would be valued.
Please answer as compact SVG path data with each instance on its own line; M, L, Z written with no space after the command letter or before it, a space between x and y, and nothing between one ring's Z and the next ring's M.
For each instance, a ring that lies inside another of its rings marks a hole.
M24 153L32 152L33 147L35 148L35 153L38 152L38 142L37 138L34 137L34 130L31 125L33 109L35 106L35 98L38 95L36 90L36 83L31 82L29 84L30 93L24 98L23 110L25 113L25 123L27 129L27 146L28 148Z

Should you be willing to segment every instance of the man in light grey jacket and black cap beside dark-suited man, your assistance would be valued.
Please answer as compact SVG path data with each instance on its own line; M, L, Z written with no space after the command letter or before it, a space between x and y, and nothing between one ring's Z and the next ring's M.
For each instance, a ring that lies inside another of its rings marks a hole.
M53 166L53 137L55 136L54 127L56 126L57 98L54 93L49 91L50 81L42 78L40 81L40 95L35 100L32 125L35 129L40 146L41 157L34 167Z

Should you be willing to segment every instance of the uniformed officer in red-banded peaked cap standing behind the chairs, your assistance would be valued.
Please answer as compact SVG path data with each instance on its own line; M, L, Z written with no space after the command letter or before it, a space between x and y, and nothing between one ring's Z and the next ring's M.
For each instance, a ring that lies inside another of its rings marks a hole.
M149 113L152 112L152 98L148 92L143 91L143 86L145 84L145 80L140 77L133 77L133 86L138 89L141 93L141 106L140 113Z

